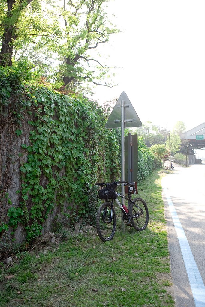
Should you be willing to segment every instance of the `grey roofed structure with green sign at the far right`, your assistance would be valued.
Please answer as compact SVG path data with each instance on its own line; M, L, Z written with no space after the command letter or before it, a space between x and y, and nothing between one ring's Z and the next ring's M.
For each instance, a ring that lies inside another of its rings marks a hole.
M193 148L205 149L205 122L180 134L182 140L187 140Z

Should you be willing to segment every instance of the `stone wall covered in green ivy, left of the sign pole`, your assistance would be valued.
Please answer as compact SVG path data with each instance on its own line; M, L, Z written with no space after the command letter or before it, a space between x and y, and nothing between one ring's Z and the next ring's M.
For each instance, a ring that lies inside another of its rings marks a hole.
M120 133L81 96L0 78L0 236L31 241L96 212L93 184L120 179Z

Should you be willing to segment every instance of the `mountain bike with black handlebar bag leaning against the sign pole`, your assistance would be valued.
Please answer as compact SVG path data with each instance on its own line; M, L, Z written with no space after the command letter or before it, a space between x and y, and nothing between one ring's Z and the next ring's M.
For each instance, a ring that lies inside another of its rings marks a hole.
M115 191L115 188L124 184L128 186L128 197L121 195ZM131 194L134 191L136 194L135 182L118 181L112 183L96 183L105 188L98 191L99 198L106 200L101 204L96 216L96 228L99 238L105 242L112 240L116 231L116 213L114 209L114 200L120 207L123 213L123 222L127 226L133 226L137 231L144 230L148 225L149 212L145 201L142 198L132 200ZM122 205L117 199L120 196L128 201L127 207Z

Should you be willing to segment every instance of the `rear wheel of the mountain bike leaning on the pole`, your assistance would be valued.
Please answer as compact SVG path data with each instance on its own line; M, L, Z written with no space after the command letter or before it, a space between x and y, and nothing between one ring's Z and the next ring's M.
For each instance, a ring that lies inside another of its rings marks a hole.
M130 204L129 216L133 216L137 213L139 213L140 215L136 218L133 218L131 220L131 223L137 231L142 231L147 227L149 221L148 207L142 198L135 198L133 200L133 203Z

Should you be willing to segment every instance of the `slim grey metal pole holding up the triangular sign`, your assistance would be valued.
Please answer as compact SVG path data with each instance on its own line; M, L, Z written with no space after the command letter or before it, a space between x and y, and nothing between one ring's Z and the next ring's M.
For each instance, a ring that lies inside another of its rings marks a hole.
M124 100L121 100L121 181L124 181ZM124 185L122 184L121 194L124 195ZM121 203L124 199L121 197ZM121 217L121 230L124 231L123 213Z

